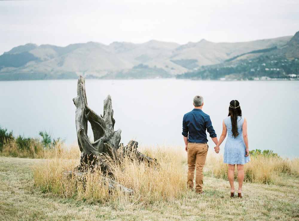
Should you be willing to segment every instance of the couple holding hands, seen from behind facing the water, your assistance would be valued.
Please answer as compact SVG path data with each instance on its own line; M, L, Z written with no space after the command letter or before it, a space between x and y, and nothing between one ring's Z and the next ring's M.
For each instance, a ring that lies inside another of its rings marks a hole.
M244 164L250 161L248 150L247 121L242 117L239 101L232 100L228 108L228 117L222 122L222 134L217 139L210 116L202 111L203 97L196 95L193 98L194 109L184 115L183 132L185 149L188 155L188 188L193 190L194 170L196 168L195 191L203 193L203 167L208 153L208 139L206 130L216 144L215 152L219 153L220 144L226 139L223 163L228 164L228 180L231 185L231 197L236 195L234 188L234 169L238 170L238 197L242 197L244 181Z

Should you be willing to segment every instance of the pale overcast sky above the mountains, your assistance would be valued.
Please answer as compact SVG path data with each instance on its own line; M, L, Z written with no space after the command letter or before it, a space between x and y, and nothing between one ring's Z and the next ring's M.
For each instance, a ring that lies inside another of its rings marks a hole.
M0 1L0 54L31 42L244 42L294 35L299 1Z

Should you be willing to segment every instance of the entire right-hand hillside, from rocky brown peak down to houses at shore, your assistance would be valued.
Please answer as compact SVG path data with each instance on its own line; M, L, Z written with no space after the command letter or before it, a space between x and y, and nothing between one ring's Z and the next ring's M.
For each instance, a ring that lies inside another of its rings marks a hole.
M217 65L202 66L177 78L221 80L299 80L299 32L283 47L239 54Z

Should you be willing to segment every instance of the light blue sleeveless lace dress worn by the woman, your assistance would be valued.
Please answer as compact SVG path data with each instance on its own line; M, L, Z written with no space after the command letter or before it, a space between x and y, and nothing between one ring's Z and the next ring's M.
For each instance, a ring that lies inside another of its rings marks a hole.
M238 116L237 118L237 127L239 135L234 138L233 133L231 132L231 116L224 118L224 124L227 129L228 137L226 139L223 155L223 163L226 164L245 164L250 161L249 156L246 156L246 147L243 139L242 126L244 123L244 117Z

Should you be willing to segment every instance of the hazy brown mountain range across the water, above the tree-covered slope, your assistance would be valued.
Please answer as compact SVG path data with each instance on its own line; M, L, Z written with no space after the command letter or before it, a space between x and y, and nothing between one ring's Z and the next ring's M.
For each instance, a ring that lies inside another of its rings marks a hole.
M156 40L110 45L88 42L66 47L26 44L0 56L0 80L67 79L79 75L110 79L185 76L204 67L267 53L299 57L298 47L299 32L295 36L237 43L202 39L185 45Z

